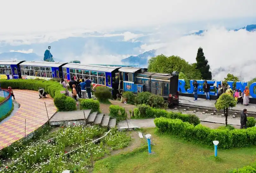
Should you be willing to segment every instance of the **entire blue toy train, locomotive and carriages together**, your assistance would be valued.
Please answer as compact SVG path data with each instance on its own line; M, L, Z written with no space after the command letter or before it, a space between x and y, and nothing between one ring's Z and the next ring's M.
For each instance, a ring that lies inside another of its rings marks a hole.
M179 73L152 73L146 68L124 65L94 65L59 63L46 61L0 61L0 79L64 78L70 81L88 76L93 86L112 88L115 97L122 91L134 93L148 91L168 99L170 104L178 104Z

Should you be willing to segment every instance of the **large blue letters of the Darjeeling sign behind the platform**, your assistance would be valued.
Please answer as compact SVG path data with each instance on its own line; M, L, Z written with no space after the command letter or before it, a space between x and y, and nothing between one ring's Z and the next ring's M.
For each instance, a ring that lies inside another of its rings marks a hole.
M182 92L182 93L186 93L187 92L187 93L192 94L193 90L194 90L194 87L193 87L193 84L192 84L193 81L194 80L190 80L190 85L189 85L190 87L186 91L186 89L185 89L185 85L186 85L185 80L179 79L178 91ZM197 83L198 83L198 91L197 91L197 93L198 94L204 94L204 91L203 91L204 81L203 80L198 80ZM210 90L213 90L215 88L214 84L216 83L216 86L218 86L219 84L222 84L222 81L207 81L207 83L210 85ZM231 89L233 90L233 83L234 83L234 81L228 81L227 83L228 83L228 85L230 85ZM240 82L236 82L236 88L235 89L241 90L243 92L246 86L247 86L247 82L241 82L241 81ZM256 82L252 83L250 85L250 88L249 88L250 95L252 96L252 98L256 98L256 94L253 91L253 88L255 86L256 86ZM210 95L216 95L216 92L210 91Z

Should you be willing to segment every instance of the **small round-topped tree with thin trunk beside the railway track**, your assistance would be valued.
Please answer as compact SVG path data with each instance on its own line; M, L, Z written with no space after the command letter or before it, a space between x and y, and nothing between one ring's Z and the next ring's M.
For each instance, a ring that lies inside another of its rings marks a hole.
M218 109L218 110L222 109L224 111L226 126L228 125L228 111L229 111L229 108L230 107L235 107L235 105L236 105L235 98L233 98L232 96L230 96L227 93L222 94L218 98L217 103L215 104L216 109Z

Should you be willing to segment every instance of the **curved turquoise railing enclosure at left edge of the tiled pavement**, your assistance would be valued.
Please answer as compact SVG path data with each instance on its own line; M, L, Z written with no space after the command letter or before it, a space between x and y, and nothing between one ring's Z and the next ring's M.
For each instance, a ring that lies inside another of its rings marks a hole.
M0 118L6 115L12 109L11 93L0 89Z

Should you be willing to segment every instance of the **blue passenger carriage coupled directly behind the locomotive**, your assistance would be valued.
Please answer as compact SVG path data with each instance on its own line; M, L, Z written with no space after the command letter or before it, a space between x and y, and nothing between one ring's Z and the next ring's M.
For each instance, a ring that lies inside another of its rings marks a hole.
M77 63L68 63L62 67L63 77L67 81L70 81L71 77L76 79L79 76L79 78L85 79L88 76L92 80L93 87L112 88L113 96L116 96L119 87L119 68L121 67Z

